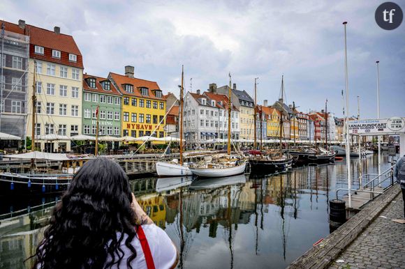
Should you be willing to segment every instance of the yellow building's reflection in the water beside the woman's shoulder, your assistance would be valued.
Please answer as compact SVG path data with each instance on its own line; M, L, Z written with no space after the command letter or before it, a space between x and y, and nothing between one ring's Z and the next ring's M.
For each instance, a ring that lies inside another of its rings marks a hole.
M163 197L157 193L145 194L137 197L137 201L147 215L154 221L154 223L165 228L166 220L166 207L163 203Z

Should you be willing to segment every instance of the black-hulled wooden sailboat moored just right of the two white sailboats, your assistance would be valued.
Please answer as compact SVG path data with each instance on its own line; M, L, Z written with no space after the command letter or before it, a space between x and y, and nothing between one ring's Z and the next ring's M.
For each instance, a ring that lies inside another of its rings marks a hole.
M281 78L281 105L283 104L283 77ZM255 85L255 95L256 95L256 85ZM256 107L256 101L255 101ZM261 121L262 121L262 114L260 113L260 133L261 130ZM256 122L256 108L255 108L255 122ZM255 151L249 157L249 163L251 165L251 173L253 174L270 174L274 173L275 171L283 171L288 167L291 167L293 164L293 157L288 154L283 153L283 144L282 144L282 135L283 135L283 116L281 114L280 117L280 150L277 151L261 151L261 139L260 136L260 151ZM255 144L256 144L256 136L255 136Z

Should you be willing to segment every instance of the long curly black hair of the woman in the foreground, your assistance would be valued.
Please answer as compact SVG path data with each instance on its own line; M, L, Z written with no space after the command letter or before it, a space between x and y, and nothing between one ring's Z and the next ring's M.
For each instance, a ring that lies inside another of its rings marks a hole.
M126 266L132 268L136 216L131 202L128 177L119 164L105 157L87 161L55 206L44 239L31 257L33 268L119 267L124 234L132 252Z

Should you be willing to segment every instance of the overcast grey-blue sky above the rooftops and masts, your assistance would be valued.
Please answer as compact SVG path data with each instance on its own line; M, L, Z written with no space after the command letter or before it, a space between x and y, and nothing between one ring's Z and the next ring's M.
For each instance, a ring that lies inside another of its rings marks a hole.
M405 12L405 1L396 1ZM376 117L376 60L380 61L381 117L405 116L405 22L380 29L374 12L383 1L15 1L0 2L0 19L19 19L71 34L84 72L107 76L135 66L135 77L178 93L184 64L186 90L228 84L258 102L286 99L303 112L342 115L344 26L348 21L350 114Z

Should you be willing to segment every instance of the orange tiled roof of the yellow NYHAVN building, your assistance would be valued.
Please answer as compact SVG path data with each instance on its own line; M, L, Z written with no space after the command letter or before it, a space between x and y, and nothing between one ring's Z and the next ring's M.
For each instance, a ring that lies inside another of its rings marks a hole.
M123 95L131 95L131 96L136 96L136 97L140 97L140 98L149 98L149 99L156 99L156 100L165 100L163 95L162 95L162 97L156 97L156 95L153 92L154 90L161 91L157 82L151 82L146 79L138 79L135 77L134 78L127 77L126 75L119 75L119 74L116 74L113 72L110 72L108 77L111 78L115 82L117 88L119 89L119 91L121 91L121 93ZM127 93L124 90L124 87L123 87L124 84L133 85L133 93ZM140 87L145 87L145 88L149 89L149 91L148 91L149 95L142 95L139 90Z

